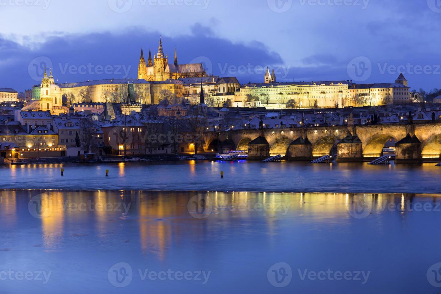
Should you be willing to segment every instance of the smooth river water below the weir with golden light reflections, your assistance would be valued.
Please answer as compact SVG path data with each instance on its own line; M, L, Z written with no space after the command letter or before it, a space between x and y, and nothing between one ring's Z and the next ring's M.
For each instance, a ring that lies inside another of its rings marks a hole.
M212 203L204 206L209 213L194 215L200 207L189 208L188 203L195 196L210 200L204 202ZM29 208L34 202L41 205L39 210ZM374 271L375 264L383 264L386 273L398 273L392 281L396 287L403 268L434 264L433 257L422 253L434 252L441 241L430 234L441 219L440 203L439 195L420 194L2 190L5 238L0 249L8 251L0 250L0 257L8 267L40 264L53 271L51 283L35 286L38 293L55 292L66 276L73 292L86 287L115 293L119 289L109 285L107 270L122 261L134 269L213 271L213 281L204 289L210 293L234 292L225 283L234 279L253 293L271 293L274 289L260 277L280 261L337 270ZM384 244L393 248L393 256ZM402 258L408 248L418 246L424 250ZM372 283L355 292L381 292L390 281L385 272L373 272ZM235 289L246 291L240 285ZM302 285L287 289L307 293L310 286ZM148 285L153 293L165 293L164 287L194 293L191 283L165 286ZM314 289L340 289L340 284L325 286ZM421 281L406 286L415 292ZM16 283L7 287L7 292L17 292ZM146 284L138 279L131 287L137 293Z

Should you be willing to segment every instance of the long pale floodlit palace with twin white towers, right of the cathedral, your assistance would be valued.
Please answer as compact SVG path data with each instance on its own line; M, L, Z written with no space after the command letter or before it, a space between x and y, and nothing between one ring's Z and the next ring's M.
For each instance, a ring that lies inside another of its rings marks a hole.
M245 103L251 95L254 99ZM324 82L276 82L274 71L270 74L267 69L263 83L242 85L235 92L235 102L246 106L267 106L268 108L285 108L288 100L294 100L297 108L314 107L315 101L319 108L346 106L376 106L386 101L397 104L409 103L410 88L403 74L395 83L355 84L352 81Z

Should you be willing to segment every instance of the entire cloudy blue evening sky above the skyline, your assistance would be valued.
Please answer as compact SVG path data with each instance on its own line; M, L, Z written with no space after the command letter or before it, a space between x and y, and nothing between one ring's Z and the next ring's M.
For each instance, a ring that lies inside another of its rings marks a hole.
M262 82L394 82L441 88L440 0L0 0L0 87L136 78L162 35L172 62Z

